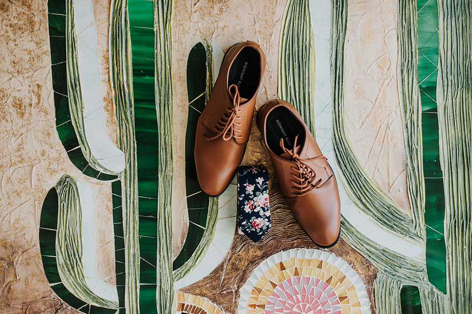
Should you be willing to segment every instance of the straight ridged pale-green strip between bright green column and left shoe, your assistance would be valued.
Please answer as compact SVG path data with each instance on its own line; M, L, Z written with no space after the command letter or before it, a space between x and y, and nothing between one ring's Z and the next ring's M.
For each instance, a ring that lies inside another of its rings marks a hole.
M159 185L157 217L157 312L171 313L174 302L172 275L172 0L154 1L156 29L156 108L159 128Z

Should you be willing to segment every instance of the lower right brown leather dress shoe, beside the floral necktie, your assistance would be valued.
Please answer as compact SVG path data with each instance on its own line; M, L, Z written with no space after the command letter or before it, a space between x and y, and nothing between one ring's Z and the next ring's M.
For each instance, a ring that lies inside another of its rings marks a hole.
M333 171L295 107L271 100L257 123L282 189L300 226L320 247L339 239L341 203Z

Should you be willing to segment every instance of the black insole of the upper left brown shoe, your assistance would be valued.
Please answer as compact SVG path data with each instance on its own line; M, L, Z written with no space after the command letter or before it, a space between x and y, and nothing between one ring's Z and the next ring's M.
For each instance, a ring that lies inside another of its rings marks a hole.
M261 76L261 57L251 47L243 48L231 65L228 86L236 84L241 98L251 99L256 93Z

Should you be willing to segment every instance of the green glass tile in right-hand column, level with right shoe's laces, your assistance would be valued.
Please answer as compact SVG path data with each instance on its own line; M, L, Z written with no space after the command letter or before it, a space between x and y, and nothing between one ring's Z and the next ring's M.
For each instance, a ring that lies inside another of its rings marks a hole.
M421 114L423 131L423 172L425 178L442 177L439 159L438 114L423 112Z

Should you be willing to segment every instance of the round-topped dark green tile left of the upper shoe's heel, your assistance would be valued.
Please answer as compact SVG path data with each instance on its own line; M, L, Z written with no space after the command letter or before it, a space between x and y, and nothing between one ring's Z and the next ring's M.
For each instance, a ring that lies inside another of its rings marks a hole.
M190 103L207 90L207 51L202 43L193 46L187 59L187 94ZM204 103L205 106L205 103ZM203 109L203 108L197 108ZM201 110L200 110L201 111Z

